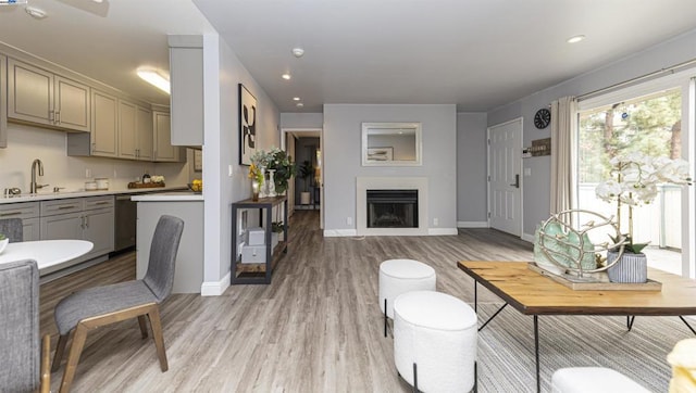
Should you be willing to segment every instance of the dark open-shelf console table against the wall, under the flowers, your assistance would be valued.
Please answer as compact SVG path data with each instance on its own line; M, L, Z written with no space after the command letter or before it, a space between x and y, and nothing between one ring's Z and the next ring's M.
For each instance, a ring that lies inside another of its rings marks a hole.
M271 250L273 207L281 204L283 205L283 241L278 241L275 250ZM259 227L265 230L265 263L262 264L243 264L238 250L239 211L251 208L259 210ZM271 283L273 268L278 259L287 253L287 198L284 195L260 198L258 201L248 199L232 204L232 284Z

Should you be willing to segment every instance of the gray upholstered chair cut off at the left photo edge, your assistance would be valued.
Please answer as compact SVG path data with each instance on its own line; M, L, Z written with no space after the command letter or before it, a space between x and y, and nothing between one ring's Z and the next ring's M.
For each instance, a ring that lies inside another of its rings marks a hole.
M0 391L51 389L51 342L39 342L39 269L34 261L0 264Z

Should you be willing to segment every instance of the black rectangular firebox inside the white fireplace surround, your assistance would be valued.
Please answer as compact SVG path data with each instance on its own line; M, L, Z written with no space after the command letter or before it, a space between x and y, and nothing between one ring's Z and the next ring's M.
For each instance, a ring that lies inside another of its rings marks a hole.
M418 190L366 190L368 228L418 228Z

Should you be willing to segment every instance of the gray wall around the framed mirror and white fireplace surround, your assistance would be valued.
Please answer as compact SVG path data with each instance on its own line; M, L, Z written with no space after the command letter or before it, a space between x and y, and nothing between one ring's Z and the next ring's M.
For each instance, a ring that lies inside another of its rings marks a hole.
M363 167L363 122L420 122L423 165ZM356 177L427 177L428 217L439 228L456 228L457 109L455 105L324 105L324 229L356 228ZM347 224L346 218L351 218Z

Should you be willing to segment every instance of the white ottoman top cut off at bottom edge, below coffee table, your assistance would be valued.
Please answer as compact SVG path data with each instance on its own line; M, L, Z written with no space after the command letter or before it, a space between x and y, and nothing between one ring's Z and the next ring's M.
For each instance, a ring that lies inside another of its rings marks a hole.
M623 373L605 367L560 368L551 377L554 393L649 393Z

